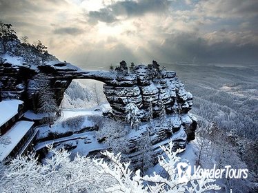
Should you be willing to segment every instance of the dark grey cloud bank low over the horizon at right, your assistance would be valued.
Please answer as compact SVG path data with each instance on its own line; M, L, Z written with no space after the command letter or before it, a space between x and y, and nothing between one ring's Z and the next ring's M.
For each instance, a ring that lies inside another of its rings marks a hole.
M160 61L210 61L255 62L258 61L258 43L243 45L229 39L210 44L195 33L181 33L167 37L162 45L149 42L151 52Z

